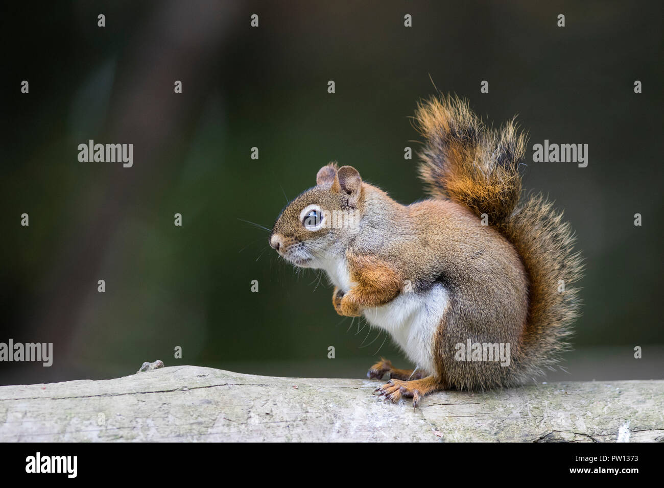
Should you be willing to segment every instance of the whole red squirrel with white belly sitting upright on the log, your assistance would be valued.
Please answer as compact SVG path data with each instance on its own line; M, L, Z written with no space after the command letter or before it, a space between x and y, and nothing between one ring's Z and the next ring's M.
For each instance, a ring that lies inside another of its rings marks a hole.
M270 246L325 270L339 315L390 333L416 368L382 359L368 376L390 374L376 391L416 407L437 390L515 386L556 364L583 266L562 214L542 195L522 198L526 143L513 122L487 127L452 96L418 104L414 120L429 199L397 203L330 163L284 208Z

